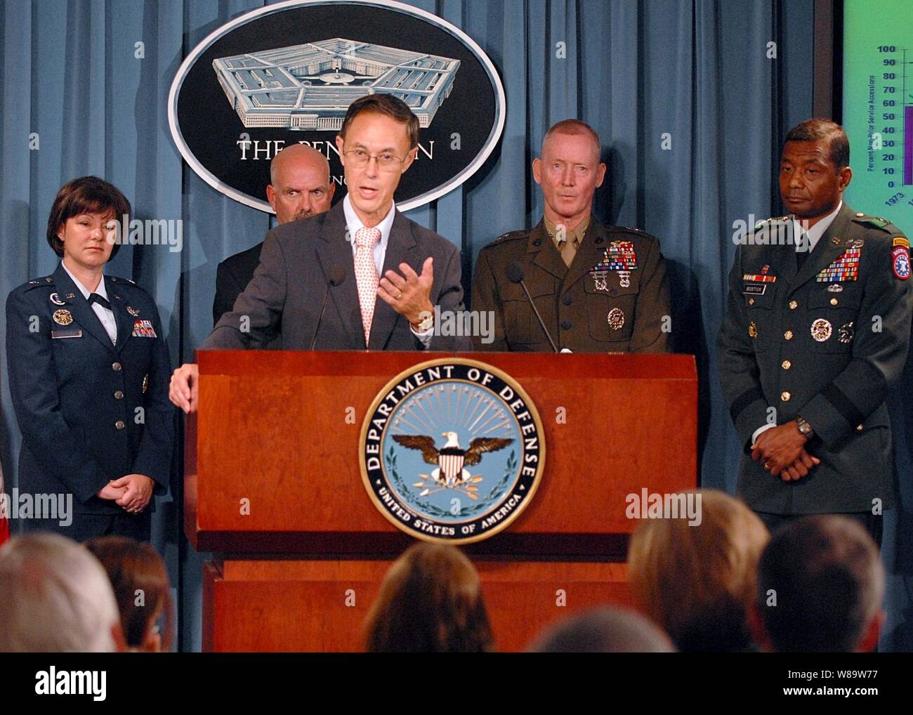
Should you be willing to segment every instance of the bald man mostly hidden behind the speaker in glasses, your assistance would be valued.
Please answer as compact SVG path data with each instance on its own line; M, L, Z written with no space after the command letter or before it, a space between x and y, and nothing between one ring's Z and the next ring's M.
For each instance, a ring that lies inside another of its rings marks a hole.
M279 224L328 211L335 188L330 180L327 158L307 144L287 146L269 164L267 199ZM215 271L214 326L223 315L231 312L235 300L254 277L262 250L263 241L260 241L257 246L229 256L219 264ZM279 336L274 336L257 347L278 348L281 344Z

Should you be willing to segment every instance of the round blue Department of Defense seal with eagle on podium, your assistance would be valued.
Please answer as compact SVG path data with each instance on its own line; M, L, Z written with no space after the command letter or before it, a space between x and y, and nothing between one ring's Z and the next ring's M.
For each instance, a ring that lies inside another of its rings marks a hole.
M421 363L386 384L359 444L374 506L429 542L478 542L505 529L545 466L529 395L508 374L464 358Z

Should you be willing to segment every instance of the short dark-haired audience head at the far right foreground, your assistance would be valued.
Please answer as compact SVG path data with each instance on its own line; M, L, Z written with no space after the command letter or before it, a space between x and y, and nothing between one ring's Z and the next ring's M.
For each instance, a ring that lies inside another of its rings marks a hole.
M762 650L867 652L885 619L885 571L854 520L820 515L774 532L761 555L751 627Z

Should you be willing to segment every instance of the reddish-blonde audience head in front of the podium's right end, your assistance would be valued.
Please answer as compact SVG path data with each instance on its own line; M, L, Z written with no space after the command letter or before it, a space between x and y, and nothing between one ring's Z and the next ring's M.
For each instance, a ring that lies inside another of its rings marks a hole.
M681 652L754 650L749 611L767 529L740 500L721 491L679 496L689 494L699 520L647 519L631 537L628 573L635 608Z

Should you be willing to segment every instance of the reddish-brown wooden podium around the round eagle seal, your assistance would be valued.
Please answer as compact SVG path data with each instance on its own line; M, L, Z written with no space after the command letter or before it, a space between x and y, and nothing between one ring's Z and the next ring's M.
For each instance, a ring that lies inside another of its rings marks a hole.
M447 353L199 352L187 420L185 519L205 563L206 651L360 651L390 563L414 539L362 485L362 420L395 375ZM517 520L464 548L498 649L627 602L626 497L693 489L698 376L690 355L466 353L513 377L546 442ZM562 409L563 408L563 409Z

